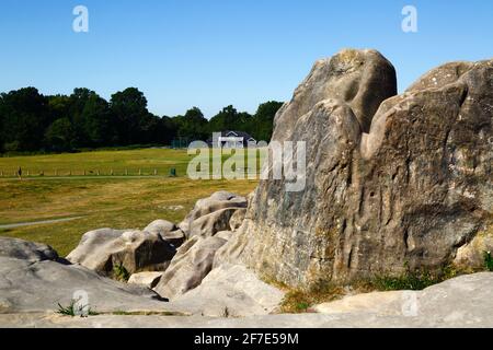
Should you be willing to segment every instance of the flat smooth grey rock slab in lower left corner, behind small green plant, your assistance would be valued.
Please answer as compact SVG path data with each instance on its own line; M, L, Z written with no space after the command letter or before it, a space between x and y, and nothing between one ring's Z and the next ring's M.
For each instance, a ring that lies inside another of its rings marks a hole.
M46 250L47 256L33 259ZM56 254L44 245L1 238L0 252L0 314L54 312L58 303L68 306L74 295L80 295L74 294L78 291L88 294L89 305L96 312L170 310L146 288L126 285L84 267L54 261Z

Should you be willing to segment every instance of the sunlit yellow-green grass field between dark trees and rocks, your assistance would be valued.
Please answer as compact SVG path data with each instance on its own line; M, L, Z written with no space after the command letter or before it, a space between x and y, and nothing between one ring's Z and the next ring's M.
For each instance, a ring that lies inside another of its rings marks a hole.
M0 158L0 170L158 168L179 177L28 177L0 179L0 225L81 217L59 223L0 229L0 235L51 245L65 256L81 235L99 228L142 229L156 219L181 221L195 201L216 190L246 195L255 180L191 180L185 150L146 149Z

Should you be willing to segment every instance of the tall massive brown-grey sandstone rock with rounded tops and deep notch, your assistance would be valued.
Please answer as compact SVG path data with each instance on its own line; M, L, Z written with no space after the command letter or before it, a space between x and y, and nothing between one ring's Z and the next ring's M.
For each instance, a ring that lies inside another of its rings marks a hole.
M491 226L493 61L448 63L394 93L378 52L317 62L273 135L306 141L305 190L261 180L215 265L290 285L434 270Z

